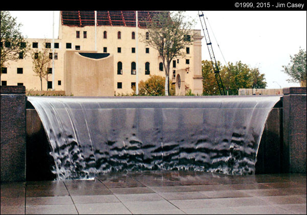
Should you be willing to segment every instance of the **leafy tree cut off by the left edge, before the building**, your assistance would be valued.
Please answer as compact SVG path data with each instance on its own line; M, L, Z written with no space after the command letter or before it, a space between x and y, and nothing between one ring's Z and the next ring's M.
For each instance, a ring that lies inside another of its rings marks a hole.
M19 53L25 57L29 47L21 35L21 24L16 23L16 18L10 15L9 11L1 11L1 74L2 68L9 60L18 60Z

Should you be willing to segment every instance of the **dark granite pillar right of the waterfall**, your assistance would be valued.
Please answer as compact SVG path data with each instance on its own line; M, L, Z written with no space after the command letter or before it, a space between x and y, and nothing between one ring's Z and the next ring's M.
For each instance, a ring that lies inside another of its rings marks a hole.
M306 88L283 89L283 173L306 173Z

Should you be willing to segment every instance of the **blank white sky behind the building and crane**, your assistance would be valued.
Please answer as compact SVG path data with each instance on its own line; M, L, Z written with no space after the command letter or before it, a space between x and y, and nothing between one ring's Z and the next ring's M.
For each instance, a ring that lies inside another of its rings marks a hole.
M198 11L187 12L197 21L194 29L202 30ZM27 38L52 38L53 11L10 13L23 25L20 30ZM54 14L57 38L59 11ZM306 50L306 11L204 11L204 14L216 60L225 65L221 49L227 62L241 60L251 68L259 68L265 74L268 89L299 87L298 83L286 81L289 76L281 72L281 66L288 65L290 55L297 54L300 47ZM202 59L210 60L205 38Z

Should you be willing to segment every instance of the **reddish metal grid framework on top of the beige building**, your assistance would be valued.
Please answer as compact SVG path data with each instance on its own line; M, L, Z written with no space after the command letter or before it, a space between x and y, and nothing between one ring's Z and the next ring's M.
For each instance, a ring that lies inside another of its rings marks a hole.
M160 13L158 11L138 11L138 26L146 28L146 23ZM94 26L95 11L61 11L61 22L65 26ZM97 11L97 26L136 26L136 11Z

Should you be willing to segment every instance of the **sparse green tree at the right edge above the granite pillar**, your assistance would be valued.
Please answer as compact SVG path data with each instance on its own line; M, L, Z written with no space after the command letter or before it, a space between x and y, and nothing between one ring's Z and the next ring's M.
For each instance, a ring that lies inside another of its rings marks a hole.
M301 87L306 87L306 50L299 49L294 56L290 55L288 66L282 66L283 72L290 76L289 82L300 83Z

